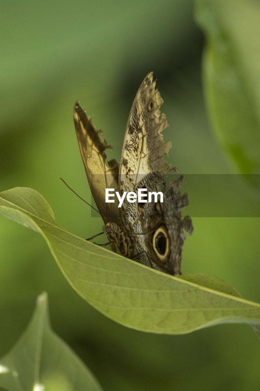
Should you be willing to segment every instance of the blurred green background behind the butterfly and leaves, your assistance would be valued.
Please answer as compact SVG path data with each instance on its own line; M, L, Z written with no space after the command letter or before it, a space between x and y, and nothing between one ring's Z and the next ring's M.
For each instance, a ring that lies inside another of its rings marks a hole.
M2 1L0 190L32 187L66 230L90 237L102 220L64 186L90 200L78 151L75 100L95 115L119 160L135 93L154 72L170 126L169 162L183 174L235 174L211 130L201 86L203 35L190 0ZM256 37L258 39L258 37ZM256 65L256 66L259 66ZM190 204L199 202L189 197ZM248 202L255 197L242 185ZM186 212L186 211L185 211ZM188 213L188 210L187 210ZM182 272L208 273L260 301L259 218L193 218ZM53 329L105 391L257 389L259 341L248 325L189 335L137 332L94 310L69 286L36 232L0 218L0 356L48 292Z

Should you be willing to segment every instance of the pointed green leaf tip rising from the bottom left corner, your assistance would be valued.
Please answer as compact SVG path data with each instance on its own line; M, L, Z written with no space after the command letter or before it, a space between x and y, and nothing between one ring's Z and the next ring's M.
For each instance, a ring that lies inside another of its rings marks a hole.
M50 328L47 294L11 352L0 359L0 388L9 391L101 391L83 362Z

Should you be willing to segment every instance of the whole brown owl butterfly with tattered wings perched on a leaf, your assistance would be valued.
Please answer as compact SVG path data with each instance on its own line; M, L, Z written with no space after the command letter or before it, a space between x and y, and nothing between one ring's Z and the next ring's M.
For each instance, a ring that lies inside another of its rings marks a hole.
M143 265L165 273L180 275L182 246L193 227L189 216L181 217L188 205L187 194L181 194L183 176L166 185L164 176L171 168L164 161L171 142L164 142L161 132L167 124L166 115L160 116L163 100L155 90L153 72L150 72L137 91L126 125L121 160L105 164L105 149L112 149L103 132L97 130L87 118L85 110L77 101L73 118L80 154L87 180L95 203L105 225L113 251ZM119 208L117 197L114 203L105 202L105 188L112 188L120 195L145 188L147 192L163 193L163 202L134 202L126 198Z

